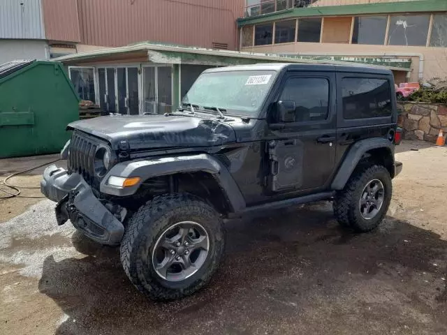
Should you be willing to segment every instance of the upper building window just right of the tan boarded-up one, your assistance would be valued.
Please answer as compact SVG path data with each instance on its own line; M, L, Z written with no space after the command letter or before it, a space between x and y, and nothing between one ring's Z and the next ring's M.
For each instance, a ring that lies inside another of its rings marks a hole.
M387 21L388 17L386 16L355 17L352 43L383 45Z

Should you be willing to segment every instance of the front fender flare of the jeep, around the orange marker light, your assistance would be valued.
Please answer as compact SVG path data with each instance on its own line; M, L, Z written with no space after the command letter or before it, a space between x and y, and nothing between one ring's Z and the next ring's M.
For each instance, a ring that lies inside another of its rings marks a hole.
M105 175L101 181L101 193L126 197L133 195L140 184L152 177L167 176L178 172L207 172L217 180L223 193L226 195L232 211L242 211L246 207L244 197L231 176L228 169L220 161L208 154L189 156L158 157L140 161L127 161L118 163ZM140 177L140 182L135 186L117 188L107 184L110 176L116 177Z

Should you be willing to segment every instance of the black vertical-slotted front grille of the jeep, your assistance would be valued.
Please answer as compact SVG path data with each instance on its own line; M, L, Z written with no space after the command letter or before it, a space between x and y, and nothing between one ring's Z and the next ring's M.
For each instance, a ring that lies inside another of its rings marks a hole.
M94 157L97 147L97 142L82 133L75 132L71 136L67 161L68 172L81 174L90 185L95 181Z

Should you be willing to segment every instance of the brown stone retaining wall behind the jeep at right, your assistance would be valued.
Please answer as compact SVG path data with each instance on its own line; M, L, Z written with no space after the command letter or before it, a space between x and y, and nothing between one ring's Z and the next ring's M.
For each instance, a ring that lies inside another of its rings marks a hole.
M440 129L447 133L447 105L399 101L397 109L406 140L436 142Z

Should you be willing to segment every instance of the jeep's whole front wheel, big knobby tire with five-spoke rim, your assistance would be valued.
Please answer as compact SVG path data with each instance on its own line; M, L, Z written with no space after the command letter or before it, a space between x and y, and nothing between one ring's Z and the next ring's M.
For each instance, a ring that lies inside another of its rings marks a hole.
M217 270L225 239L217 211L187 194L161 195L131 217L120 252L127 276L155 300L203 288Z

